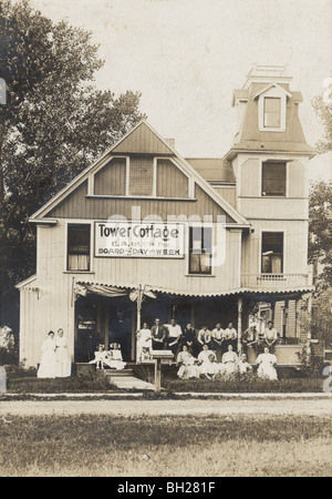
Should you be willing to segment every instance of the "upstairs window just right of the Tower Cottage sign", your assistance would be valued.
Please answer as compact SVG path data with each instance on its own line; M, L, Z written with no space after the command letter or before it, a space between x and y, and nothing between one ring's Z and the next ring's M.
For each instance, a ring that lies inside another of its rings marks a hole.
M189 228L189 274L211 274L212 230Z

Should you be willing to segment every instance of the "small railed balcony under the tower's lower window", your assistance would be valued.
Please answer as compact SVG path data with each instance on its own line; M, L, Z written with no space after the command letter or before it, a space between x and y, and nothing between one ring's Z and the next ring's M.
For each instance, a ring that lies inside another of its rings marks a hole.
M241 287L261 292L304 291L312 286L308 274L241 274Z

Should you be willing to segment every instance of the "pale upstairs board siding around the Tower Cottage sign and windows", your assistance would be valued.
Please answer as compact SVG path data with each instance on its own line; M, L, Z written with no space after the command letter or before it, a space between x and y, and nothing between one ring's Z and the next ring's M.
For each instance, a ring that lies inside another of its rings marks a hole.
M185 248L188 245L188 225L186 226ZM65 221L60 221L55 227L42 228L39 237L39 279L44 282L43 287L59 289L62 295L63 286L71 286L68 276L75 273L66 273L66 247L65 247ZM92 227L93 231L93 227ZM143 258L143 257L93 257L92 272L96 282L114 285L148 284L157 288L167 288L184 292L220 292L239 287L239 258L240 258L240 232L227 231L225 261L214 268L214 276L201 276L199 278L188 276L188 256L184 258ZM215 243L216 237L215 237ZM52 247L51 253L49 247ZM187 252L185 252L187 253ZM51 259L50 259L51 258ZM52 265L50 265L52 262ZM175 286L176 282L176 286ZM58 294L58 292L56 292ZM62 299L62 298L61 298ZM54 315L54 318L56 313ZM59 326L60 327L60 326Z

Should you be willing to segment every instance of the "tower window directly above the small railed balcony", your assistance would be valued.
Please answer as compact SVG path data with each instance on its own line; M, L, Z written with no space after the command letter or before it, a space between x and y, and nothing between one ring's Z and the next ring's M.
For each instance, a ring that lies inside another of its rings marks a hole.
M283 272L283 232L263 232L261 241L262 274Z

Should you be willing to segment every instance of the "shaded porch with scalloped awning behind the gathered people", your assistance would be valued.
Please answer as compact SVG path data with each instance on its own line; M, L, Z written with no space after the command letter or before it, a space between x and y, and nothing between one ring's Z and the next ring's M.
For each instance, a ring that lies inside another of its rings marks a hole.
M80 286L82 291L84 283ZM204 325L212 330L217 323L226 328L231 322L238 332L240 350L241 334L252 325L255 310L261 335L268 320L274 323L279 334L277 357L281 365L299 365L298 354L308 340L307 333L301 329L301 313L303 307L310 308L311 301L303 301L301 291L241 289L198 296L149 286L133 289L101 283L89 283L85 291L75 301L75 363L91 360L98 343L108 349L114 340L121 343L124 360L135 363L136 332L144 323L151 328L156 318L160 324L169 324L174 318L183 329L190 323L197 333ZM250 350L248 354L253 364L257 353Z

